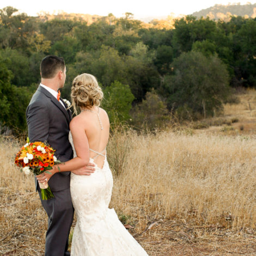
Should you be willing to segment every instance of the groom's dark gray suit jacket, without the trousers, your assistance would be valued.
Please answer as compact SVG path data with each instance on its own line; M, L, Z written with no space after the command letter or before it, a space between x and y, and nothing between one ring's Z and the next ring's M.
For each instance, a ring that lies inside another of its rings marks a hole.
M65 102L62 102L67 107ZM69 143L69 123L72 118L70 110L66 111L51 93L39 86L27 107L26 115L31 142L46 141L56 150L54 154L61 162L72 159L73 150ZM36 179L35 182L37 188ZM70 172L54 174L48 185L53 192L69 188Z

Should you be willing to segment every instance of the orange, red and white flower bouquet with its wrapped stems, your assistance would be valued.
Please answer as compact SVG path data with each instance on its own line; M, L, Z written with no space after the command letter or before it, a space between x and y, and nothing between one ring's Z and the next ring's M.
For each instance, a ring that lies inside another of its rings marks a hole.
M29 143L27 138L27 144L23 145L21 150L16 154L15 164L21 168L21 172L25 174L33 173L39 175L43 172L49 173L54 164L60 163L54 156L54 149L43 142ZM53 198L52 191L48 186L48 182L39 182L41 188L42 200Z

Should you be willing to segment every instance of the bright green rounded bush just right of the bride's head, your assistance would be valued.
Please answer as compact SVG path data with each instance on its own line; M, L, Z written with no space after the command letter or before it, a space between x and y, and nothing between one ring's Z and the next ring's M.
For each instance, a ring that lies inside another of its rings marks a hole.
M128 121L134 100L130 87L114 81L111 86L104 89L103 93L102 107L106 109L109 121L113 124Z

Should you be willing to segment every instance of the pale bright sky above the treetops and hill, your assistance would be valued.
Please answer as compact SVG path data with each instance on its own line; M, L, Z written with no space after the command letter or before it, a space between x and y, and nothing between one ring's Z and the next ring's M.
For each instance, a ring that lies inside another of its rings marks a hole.
M246 4L248 0L1 0L0 9L11 6L29 16L36 16L40 11L46 11L50 14L65 11L65 13L97 14L100 16L107 16L109 13L112 13L116 17L124 16L126 12L129 12L135 17L156 17L168 16L171 13L188 15L195 11L212 7L215 4L237 2ZM255 2L254 0L251 3L254 4Z

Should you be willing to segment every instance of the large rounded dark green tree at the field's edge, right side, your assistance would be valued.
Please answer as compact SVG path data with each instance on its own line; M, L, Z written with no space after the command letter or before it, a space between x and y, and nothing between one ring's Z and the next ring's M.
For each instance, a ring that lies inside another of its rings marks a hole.
M215 55L200 52L182 53L172 63L173 75L164 78L162 94L169 108L184 108L204 117L220 111L227 99L229 75L226 66Z

